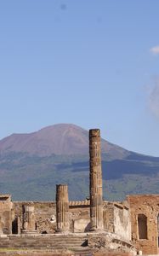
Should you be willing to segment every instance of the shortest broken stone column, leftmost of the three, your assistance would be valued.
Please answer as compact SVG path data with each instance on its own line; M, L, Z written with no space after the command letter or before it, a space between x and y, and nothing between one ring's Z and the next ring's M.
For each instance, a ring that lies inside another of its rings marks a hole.
M31 234L35 233L35 214L34 214L34 207L23 205L23 223L22 223L22 234Z

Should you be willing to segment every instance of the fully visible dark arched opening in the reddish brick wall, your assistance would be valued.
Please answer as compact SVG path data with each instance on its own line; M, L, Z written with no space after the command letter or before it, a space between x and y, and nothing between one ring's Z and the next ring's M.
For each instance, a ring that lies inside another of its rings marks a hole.
M139 239L147 239L147 217L145 214L138 215L138 235Z

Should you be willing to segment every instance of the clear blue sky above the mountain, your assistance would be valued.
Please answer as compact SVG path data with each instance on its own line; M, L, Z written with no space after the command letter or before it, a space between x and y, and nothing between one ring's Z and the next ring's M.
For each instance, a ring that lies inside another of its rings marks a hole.
M159 1L0 1L0 139L57 123L159 156Z

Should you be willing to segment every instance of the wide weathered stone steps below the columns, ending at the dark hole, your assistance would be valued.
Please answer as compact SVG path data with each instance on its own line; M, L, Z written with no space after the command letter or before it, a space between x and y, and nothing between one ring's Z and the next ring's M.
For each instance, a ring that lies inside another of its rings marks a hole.
M53 235L9 235L0 237L0 247L2 248L28 248L46 250L73 250L84 249L82 245L87 241L86 234L64 235L56 233Z

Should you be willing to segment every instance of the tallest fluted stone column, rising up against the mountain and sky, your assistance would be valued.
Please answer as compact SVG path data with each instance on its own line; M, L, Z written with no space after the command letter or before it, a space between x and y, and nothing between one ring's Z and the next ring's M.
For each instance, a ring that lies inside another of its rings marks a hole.
M103 230L102 171L100 131L89 130L90 230Z

